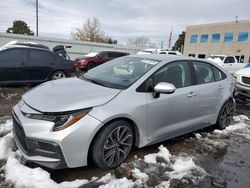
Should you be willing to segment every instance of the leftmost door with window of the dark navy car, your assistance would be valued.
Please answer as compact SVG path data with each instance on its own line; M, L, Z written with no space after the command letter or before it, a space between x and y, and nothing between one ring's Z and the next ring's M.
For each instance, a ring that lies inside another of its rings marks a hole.
M6 49L0 52L0 82L21 83L27 81L27 50Z

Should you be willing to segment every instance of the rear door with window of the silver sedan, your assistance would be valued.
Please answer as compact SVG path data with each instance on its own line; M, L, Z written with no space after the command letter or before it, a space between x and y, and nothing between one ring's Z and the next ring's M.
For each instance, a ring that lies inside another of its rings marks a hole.
M192 61L192 65L196 76L193 89L197 95L197 121L201 125L209 125L213 123L214 116L221 106L225 75L221 71L218 73L216 67L206 62ZM221 79L217 78L219 76Z

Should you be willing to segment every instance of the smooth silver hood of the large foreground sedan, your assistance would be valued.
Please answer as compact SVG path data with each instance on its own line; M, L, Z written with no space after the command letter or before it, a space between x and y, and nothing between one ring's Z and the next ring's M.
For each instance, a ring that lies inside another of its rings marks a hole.
M78 78L67 78L41 84L25 93L22 99L41 112L67 112L105 104L120 91Z

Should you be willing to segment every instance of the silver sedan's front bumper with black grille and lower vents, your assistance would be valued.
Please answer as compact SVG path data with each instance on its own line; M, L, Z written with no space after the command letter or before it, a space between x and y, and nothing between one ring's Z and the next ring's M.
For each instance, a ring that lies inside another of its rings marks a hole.
M53 132L52 122L26 118L18 105L12 118L14 140L25 160L52 169L86 166L90 143L102 126L86 115L71 127Z

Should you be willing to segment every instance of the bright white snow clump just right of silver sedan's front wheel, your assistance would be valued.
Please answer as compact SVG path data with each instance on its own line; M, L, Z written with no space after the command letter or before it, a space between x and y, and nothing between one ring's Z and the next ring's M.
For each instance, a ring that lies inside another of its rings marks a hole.
M159 150L160 151L158 153L152 153L152 154L145 155L144 161L146 163L156 164L157 163L156 158L162 157L163 159L165 159L166 162L169 162L171 154L169 153L167 148L165 148L163 145L160 145Z

